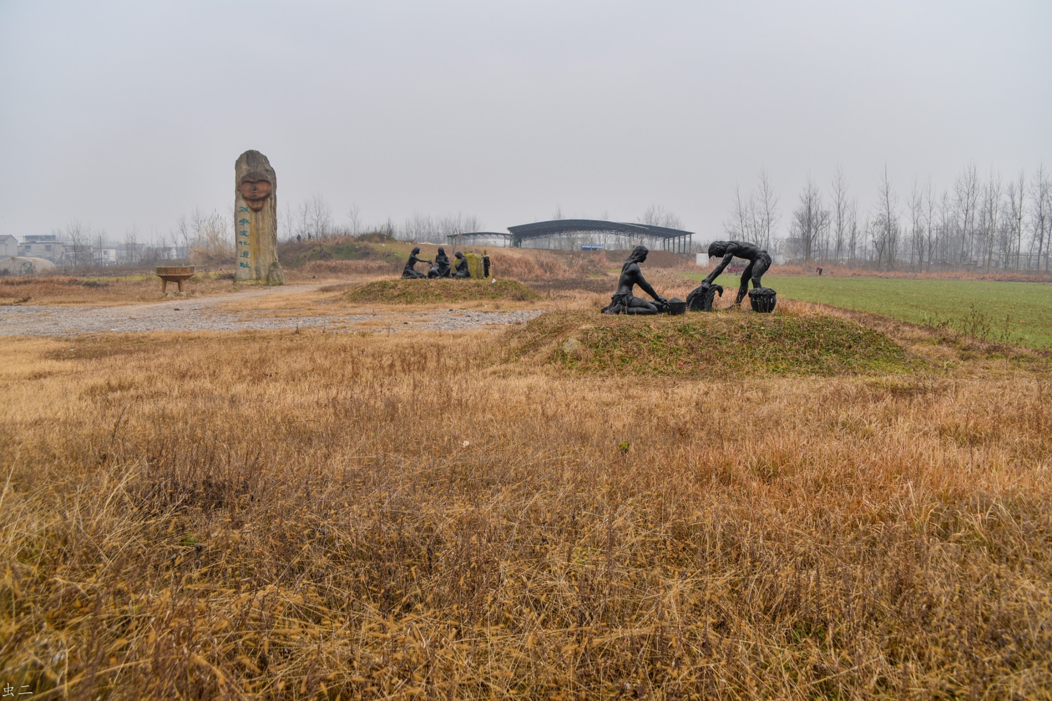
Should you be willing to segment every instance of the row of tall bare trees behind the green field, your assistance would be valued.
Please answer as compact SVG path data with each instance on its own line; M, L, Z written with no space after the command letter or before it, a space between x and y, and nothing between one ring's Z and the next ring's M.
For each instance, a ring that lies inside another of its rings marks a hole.
M755 221L766 195L762 186L744 200L735 192L727 232L751 235L770 245ZM743 204L744 203L744 204ZM769 211L769 209L767 209ZM750 228L751 227L751 228ZM1052 180L1044 165L1005 180L991 171L983 179L974 164L956 178L952 188L937 189L929 178L913 180L908 195L899 197L887 168L869 210L859 210L849 192L842 168L833 172L828 195L808 177L789 220L783 252L788 259L869 263L882 269L983 268L1050 270L1052 241Z

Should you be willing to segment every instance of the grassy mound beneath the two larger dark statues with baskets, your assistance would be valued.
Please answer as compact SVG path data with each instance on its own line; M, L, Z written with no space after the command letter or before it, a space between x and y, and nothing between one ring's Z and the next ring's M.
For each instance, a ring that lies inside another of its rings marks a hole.
M520 356L595 373L834 375L903 372L917 363L884 334L823 315L553 312L512 334Z

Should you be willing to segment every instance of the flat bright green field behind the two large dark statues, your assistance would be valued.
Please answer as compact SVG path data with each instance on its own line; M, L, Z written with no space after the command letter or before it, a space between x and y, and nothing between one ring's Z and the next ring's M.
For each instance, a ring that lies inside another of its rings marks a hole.
M694 280L702 273L688 273ZM737 276L716 281L727 292ZM915 324L937 325L969 335L1008 337L1031 348L1052 347L1052 285L964 280L802 277L764 275L778 296L856 309ZM726 295L727 292L724 294Z

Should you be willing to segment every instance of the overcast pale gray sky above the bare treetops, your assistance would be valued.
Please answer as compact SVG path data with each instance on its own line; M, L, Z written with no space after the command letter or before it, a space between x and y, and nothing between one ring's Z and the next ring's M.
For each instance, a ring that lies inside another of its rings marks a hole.
M225 212L255 148L279 207L487 229L634 221L717 238L766 167L861 204L885 163L952 187L1052 156L1052 2L0 0L0 234L122 239Z

